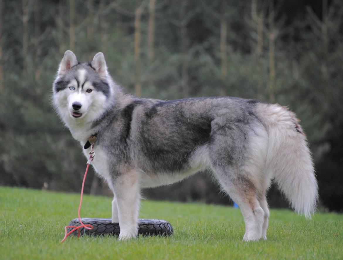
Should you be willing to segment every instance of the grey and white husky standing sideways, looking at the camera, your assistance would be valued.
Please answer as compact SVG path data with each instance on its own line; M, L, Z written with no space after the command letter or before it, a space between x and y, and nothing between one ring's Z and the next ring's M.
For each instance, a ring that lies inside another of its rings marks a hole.
M119 239L138 236L140 190L211 169L239 206L244 241L267 239L266 192L274 180L294 210L309 218L318 185L306 136L286 107L232 97L158 100L134 97L108 73L103 53L80 63L66 51L53 104L114 194Z

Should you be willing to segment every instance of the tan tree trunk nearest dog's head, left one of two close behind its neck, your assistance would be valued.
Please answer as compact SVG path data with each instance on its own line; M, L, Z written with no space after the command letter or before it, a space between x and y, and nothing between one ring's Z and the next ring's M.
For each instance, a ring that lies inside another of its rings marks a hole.
M140 56L141 56L141 6L134 15L134 91L141 96Z

